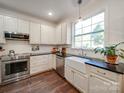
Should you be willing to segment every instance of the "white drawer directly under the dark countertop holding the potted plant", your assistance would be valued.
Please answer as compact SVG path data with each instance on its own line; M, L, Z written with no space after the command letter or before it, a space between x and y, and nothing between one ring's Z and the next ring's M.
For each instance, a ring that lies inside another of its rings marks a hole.
M89 66L89 70L90 70L90 72L93 72L97 75L103 76L109 80L118 81L118 79L119 79L119 74L113 73L111 71L107 71L105 69Z

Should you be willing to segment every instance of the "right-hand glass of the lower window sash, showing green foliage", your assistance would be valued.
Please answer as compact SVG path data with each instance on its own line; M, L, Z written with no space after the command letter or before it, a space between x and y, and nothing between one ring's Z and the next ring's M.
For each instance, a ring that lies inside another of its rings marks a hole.
M104 45L104 32L95 33L91 35L92 38L92 47L103 47Z

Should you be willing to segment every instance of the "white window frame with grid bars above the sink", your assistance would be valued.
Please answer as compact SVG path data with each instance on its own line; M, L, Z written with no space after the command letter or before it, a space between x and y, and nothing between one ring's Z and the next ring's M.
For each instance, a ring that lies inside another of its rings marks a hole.
M104 13L104 20L92 24L92 18L95 17L95 16L97 16L97 15L99 15L99 14L102 14L102 13ZM78 30L79 30L79 29L84 29L84 28L86 28L86 27L91 27L91 31L92 31L92 26L93 26L93 25L99 24L99 23L104 23L104 24L103 24L104 30L99 30L99 31L95 31L95 32L89 32L89 33L84 33L84 34L82 33L82 34L79 34L79 35L75 35L75 31L77 30L77 29L75 29L75 25L77 24L77 21L74 22L74 30L73 30L73 34L72 34L72 47L71 47L72 49L93 50L94 48L91 47L91 45L90 45L90 48L83 48L83 47L82 47L82 41L83 41L82 38L81 38L81 47L80 47L80 48L75 47L75 43L76 43L76 42L75 42L75 37L83 36L83 35L92 35L92 34L94 34L94 33L100 33L100 32L103 32L103 33L104 33L103 47L105 46L105 13L106 13L105 11L100 11L100 12L95 13L94 15L91 15L91 16L89 16L89 17L83 18L82 21L85 21L85 20L91 18L91 24L88 25L88 26L85 26L85 27L82 26L81 28L78 28ZM90 43L92 42L91 39L90 39L89 41L90 41Z

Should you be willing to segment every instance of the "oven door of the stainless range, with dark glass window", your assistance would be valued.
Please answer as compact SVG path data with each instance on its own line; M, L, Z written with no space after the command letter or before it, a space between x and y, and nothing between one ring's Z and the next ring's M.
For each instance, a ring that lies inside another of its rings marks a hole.
M29 60L14 60L2 63L2 80L18 79L29 73Z

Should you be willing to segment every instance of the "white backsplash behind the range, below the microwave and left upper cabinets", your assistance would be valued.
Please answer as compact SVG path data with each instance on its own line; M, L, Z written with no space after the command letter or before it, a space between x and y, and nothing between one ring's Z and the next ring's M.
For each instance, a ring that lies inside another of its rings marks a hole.
M11 41L8 40L5 45L2 45L5 51L2 52L2 55L6 55L9 53L9 50L14 50L15 53L43 53L50 52L53 48L52 46L39 46L39 50L32 51L32 46L28 41Z

